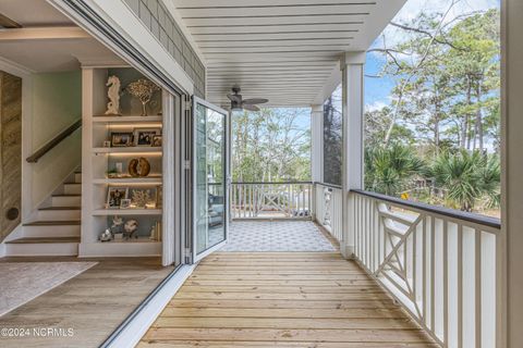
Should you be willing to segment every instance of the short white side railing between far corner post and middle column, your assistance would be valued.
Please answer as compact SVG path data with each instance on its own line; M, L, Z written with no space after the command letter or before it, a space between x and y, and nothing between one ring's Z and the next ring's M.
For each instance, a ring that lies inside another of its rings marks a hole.
M341 187L315 184L315 217L336 240L343 240L343 191Z

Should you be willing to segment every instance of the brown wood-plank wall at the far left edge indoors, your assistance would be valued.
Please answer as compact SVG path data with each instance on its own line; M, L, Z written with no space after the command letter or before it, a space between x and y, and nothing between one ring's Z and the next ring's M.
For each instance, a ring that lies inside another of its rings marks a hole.
M0 72L0 241L21 222L22 78Z

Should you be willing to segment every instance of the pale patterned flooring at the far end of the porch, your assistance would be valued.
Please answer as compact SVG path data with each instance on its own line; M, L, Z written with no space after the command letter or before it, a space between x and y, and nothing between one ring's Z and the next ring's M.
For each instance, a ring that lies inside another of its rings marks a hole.
M242 221L220 251L336 251L312 221Z

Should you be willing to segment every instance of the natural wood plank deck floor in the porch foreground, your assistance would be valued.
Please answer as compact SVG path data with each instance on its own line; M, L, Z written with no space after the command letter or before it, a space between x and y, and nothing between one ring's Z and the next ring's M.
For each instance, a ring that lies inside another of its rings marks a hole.
M138 347L437 347L338 253L214 253Z

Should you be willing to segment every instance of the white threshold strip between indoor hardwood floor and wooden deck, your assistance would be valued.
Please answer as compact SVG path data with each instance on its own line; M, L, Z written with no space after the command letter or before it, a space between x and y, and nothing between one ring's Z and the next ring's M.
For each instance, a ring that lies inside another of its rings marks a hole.
M130 323L104 347L135 347L150 325L160 315L163 308L177 294L185 279L193 273L195 265L183 265L161 289L139 310Z

